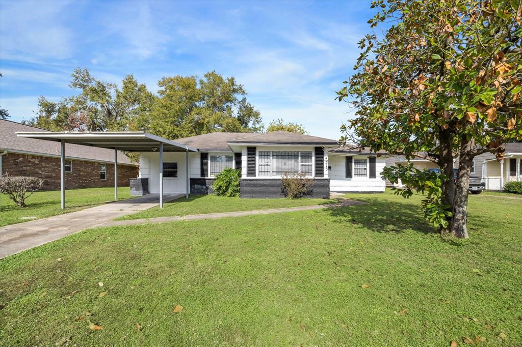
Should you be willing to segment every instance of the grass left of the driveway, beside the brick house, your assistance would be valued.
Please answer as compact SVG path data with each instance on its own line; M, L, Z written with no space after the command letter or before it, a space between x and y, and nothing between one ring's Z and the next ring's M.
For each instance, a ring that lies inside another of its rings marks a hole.
M128 187L118 188L118 200L131 197ZM35 192L18 207L7 195L0 194L0 227L77 211L114 201L114 188L71 189L65 191L65 209L60 208L60 191Z

